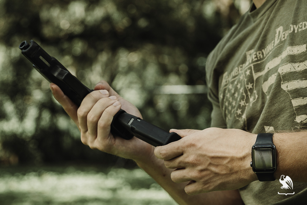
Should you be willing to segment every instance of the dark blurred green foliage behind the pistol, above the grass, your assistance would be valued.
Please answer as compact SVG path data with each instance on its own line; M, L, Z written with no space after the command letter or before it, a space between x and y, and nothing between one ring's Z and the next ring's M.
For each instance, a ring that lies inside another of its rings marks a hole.
M85 85L106 80L164 129L204 129L206 93L158 86L203 85L208 53L250 0L0 0L0 164L123 163L91 150L18 45L33 39ZM136 148L137 149L137 148Z

